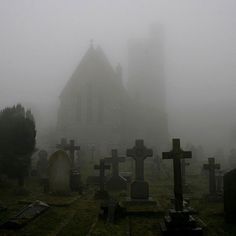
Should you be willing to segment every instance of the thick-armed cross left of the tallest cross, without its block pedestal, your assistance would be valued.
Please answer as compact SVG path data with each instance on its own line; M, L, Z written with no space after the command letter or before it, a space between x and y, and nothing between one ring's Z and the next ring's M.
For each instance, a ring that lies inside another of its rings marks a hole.
M135 178L136 180L144 180L144 160L153 155L152 149L144 146L143 140L136 140L135 146L127 150L127 156L135 160Z

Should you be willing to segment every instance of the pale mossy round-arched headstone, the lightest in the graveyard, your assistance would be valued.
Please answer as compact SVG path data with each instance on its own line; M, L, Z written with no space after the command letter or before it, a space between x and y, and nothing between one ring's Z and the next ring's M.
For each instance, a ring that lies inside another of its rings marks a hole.
M63 150L49 158L49 191L56 194L70 192L71 159Z

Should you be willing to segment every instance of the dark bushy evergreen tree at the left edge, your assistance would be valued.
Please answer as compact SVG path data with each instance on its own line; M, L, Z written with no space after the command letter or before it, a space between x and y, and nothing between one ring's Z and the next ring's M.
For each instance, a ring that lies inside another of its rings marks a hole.
M2 173L18 180L20 187L28 175L35 150L35 121L30 110L20 104L0 111L0 166Z

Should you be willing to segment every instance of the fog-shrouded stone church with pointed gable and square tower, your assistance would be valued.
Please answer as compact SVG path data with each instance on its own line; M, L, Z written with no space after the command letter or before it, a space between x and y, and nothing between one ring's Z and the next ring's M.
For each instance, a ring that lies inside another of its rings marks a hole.
M165 87L156 46L147 40L129 47L126 88L121 66L114 69L91 45L60 95L58 137L75 139L85 156L109 155L112 148L125 153L135 139L154 151L165 147Z

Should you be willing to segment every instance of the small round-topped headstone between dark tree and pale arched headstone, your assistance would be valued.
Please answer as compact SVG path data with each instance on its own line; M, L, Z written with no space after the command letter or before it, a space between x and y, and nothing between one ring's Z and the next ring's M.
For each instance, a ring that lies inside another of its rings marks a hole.
M48 153L45 150L40 150L38 153L37 161L37 173L40 180L47 179L47 169L48 169Z

